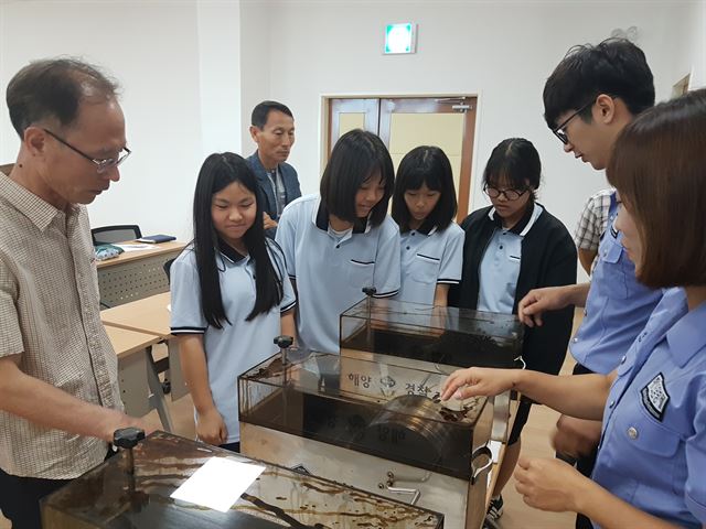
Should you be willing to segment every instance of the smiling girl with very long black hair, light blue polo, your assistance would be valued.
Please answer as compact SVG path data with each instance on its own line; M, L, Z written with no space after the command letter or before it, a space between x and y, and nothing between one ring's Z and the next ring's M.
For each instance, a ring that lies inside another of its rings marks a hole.
M206 158L193 218L194 240L171 267L171 332L199 440L239 451L237 377L277 352L274 337L295 336L296 300L243 158Z

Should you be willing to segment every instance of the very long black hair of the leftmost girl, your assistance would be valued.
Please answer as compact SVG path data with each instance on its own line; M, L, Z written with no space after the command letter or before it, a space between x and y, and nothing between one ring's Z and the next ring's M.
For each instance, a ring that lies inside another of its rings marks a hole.
M280 277L282 270L276 263L279 273L275 271L265 240L263 226L263 201L258 192L257 179L247 162L237 154L224 152L211 154L203 162L196 181L194 193L194 251L196 253L196 268L199 270L199 283L201 284L201 305L203 314L210 325L223 328L223 322L229 325L223 307L221 294L220 272L223 269L216 260L218 247L224 241L220 240L218 233L213 225L211 207L213 195L234 182L239 182L246 190L255 195L257 213L253 226L243 236L250 258L255 260L255 306L246 321L255 319L260 313L268 312L272 306L279 305L284 290Z

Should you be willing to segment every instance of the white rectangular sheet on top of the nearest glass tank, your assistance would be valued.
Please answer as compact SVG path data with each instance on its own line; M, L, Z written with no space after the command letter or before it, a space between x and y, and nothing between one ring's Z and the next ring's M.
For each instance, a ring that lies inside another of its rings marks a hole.
M211 457L171 497L227 512L264 469L264 466Z

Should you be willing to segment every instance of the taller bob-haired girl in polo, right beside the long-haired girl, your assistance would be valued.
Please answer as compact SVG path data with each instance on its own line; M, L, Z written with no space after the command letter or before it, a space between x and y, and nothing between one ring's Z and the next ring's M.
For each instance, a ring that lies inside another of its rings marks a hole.
M320 193L284 210L276 240L298 298L300 345L339 352L339 316L365 298L399 290L399 230L387 215L395 175L382 140L360 129L335 143Z

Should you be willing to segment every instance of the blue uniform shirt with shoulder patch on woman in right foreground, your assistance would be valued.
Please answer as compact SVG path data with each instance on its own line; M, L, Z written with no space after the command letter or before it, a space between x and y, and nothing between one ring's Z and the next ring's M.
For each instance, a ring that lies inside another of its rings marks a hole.
M592 479L678 527L706 525L706 303L670 289L619 358Z

